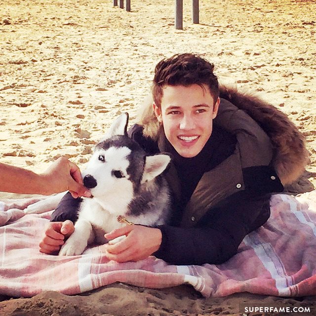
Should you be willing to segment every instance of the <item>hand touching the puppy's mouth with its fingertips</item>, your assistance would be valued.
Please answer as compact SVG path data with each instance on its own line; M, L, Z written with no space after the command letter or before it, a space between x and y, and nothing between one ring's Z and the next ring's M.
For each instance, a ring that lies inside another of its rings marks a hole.
M74 198L91 196L83 186L79 167L66 157L55 160L42 176L52 193L68 190Z

